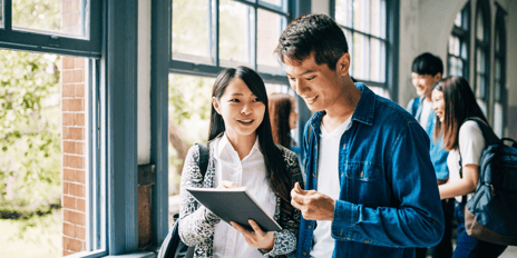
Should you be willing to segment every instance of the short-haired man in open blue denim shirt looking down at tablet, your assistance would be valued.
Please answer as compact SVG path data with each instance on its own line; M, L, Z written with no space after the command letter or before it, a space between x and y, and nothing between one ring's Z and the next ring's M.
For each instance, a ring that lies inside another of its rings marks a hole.
M296 257L414 257L414 247L438 244L429 137L397 103L352 82L341 28L324 14L296 18L275 52L315 112L304 129L306 187L291 191L303 215Z

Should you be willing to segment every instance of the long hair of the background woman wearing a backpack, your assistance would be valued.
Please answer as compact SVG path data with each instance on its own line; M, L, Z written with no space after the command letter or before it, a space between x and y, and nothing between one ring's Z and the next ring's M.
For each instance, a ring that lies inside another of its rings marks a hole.
M435 141L443 133L443 146L447 151L458 148L459 129L469 117L478 117L488 125L472 89L462 77L447 77L435 85L432 90L443 92L443 123L437 119Z

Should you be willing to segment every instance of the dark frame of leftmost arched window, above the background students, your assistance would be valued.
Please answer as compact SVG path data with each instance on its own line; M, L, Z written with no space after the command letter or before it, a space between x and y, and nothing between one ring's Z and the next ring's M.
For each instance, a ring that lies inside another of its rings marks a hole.
M452 72L451 72L451 63L450 63L450 59L451 58L456 58L456 59L460 59L462 60L464 62L464 67L462 67L462 76L464 78L469 78L469 67L470 67L470 1L468 1L465 7L461 9L460 11L460 16L461 16L461 27L458 27L456 26L456 23L452 26L452 31L451 31L451 36L452 37L457 37L459 38L459 43L460 43L460 54L459 56L455 56L452 53L449 52L449 44L448 44L448 48L447 48L447 75L449 76L452 76ZM467 46L467 48L465 49L467 52L464 53L462 52L462 48L461 46ZM465 54L465 59L461 57ZM457 76L457 75L455 75Z

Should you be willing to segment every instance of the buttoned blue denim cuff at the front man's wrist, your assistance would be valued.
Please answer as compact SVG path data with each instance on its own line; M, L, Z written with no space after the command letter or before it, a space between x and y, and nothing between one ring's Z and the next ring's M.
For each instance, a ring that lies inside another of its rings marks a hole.
M336 200L332 219L332 236L343 238L359 220L359 206L344 200Z

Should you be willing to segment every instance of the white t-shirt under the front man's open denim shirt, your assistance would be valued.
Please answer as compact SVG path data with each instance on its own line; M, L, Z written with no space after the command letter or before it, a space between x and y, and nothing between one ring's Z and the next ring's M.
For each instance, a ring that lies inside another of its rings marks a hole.
M339 177L339 149L341 136L348 129L352 116L338 128L328 132L321 126L319 158L318 158L318 191L336 200L341 186ZM328 258L334 251L334 239L331 236L331 220L318 220L314 229L314 246L311 257Z

